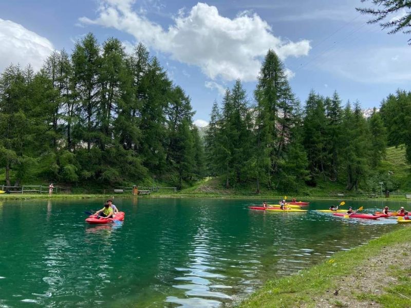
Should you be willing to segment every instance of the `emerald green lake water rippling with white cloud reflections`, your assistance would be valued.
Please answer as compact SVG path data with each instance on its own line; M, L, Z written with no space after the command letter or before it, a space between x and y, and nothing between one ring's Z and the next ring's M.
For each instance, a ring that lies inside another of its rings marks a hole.
M0 307L217 307L267 279L400 227L250 200L115 198L121 224L88 225L104 200L0 201ZM332 201L312 202L309 209ZM411 203L346 201L372 213Z

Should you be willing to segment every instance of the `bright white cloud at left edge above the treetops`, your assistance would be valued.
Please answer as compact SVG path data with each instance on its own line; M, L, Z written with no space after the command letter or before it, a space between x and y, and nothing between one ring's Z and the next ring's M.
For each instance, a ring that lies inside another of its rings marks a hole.
M11 63L22 67L30 63L34 70L38 70L54 50L47 38L1 18L0 42L0 71Z

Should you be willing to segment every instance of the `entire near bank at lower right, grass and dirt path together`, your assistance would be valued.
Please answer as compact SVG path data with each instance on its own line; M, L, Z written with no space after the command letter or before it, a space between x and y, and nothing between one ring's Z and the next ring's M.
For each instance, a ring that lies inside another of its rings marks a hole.
M296 275L267 282L239 306L411 307L410 237L411 228L404 226L337 253Z

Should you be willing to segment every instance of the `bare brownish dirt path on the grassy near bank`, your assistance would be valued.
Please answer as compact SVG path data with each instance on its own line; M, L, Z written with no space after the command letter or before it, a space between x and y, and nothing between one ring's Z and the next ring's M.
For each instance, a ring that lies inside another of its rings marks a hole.
M411 243L384 247L380 255L369 258L367 264L356 267L352 275L337 278L335 288L327 290L323 296L316 298L315 306L321 308L383 307L372 298L385 294L384 290L387 286L399 283L398 276L396 278L393 274L394 269L400 269L404 276L411 277L410 249ZM409 299L401 293L397 295ZM407 307L411 307L411 299L409 303Z

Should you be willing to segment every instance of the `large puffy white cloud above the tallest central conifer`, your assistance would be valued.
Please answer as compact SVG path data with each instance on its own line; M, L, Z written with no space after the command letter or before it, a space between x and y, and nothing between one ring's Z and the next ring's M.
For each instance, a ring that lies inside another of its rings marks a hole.
M81 23L127 32L173 60L200 67L211 80L255 81L268 49L282 60L307 55L311 49L308 40L291 42L274 36L257 14L240 12L231 19L221 16L215 6L198 3L187 13L179 10L174 24L164 30L133 10L133 0L99 3L98 17L81 17Z

